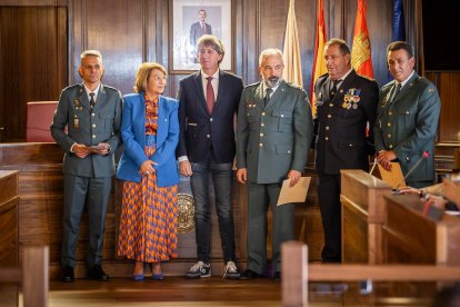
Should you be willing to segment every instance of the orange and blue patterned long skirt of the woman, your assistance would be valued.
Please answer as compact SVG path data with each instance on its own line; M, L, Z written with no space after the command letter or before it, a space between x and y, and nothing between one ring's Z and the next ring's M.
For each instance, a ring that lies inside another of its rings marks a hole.
M152 156L154 147L147 146ZM117 254L143 263L177 258L178 187L157 186L157 174L124 181Z

